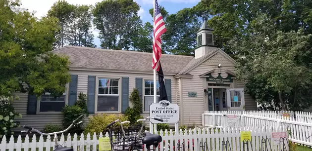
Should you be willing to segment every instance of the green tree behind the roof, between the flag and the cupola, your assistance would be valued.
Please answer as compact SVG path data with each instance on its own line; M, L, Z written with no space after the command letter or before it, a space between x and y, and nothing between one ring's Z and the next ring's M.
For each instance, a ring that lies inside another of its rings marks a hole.
M197 31L203 21L207 21L208 12L200 2L192 8L184 8L175 14L168 12L160 6L167 32L162 36L162 50L171 54L193 55L197 47ZM150 9L153 17L153 8Z

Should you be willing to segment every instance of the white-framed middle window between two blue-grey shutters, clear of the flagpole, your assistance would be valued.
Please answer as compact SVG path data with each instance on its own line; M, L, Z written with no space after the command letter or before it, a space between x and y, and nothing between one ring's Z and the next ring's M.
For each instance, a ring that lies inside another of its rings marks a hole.
M119 107L119 79L98 79L98 112L118 111Z

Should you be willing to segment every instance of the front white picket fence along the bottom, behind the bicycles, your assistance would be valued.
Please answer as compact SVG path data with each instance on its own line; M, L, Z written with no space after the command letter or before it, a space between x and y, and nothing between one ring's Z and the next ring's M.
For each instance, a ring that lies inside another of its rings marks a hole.
M214 131L215 130L215 131ZM285 129L279 128L274 129L272 127L262 128L262 129L246 129L244 131L251 131L251 140L241 141L240 140L240 132L241 129L227 129L224 131L218 131L218 129L193 129L193 130L184 130L180 129L179 133L174 133L172 130L169 132L166 130L163 132L160 131L159 135L162 137L163 143L160 143L158 150L156 151L177 151L176 148L182 148L184 146L184 151L203 151L201 146L205 146L204 148L209 151L262 151L264 149L265 144L262 141L270 142L267 146L271 148L271 151L289 151L288 144L285 141L285 150L282 150L279 145L276 145L271 140L271 132L285 132ZM157 132L156 132L157 133ZM107 137L101 133L99 137ZM88 133L87 137L84 134L81 134L79 139L76 134L74 134L73 139L71 139L71 135L68 134L67 139L64 139L62 135L59 139L59 144L63 144L63 147L72 147L74 151L97 151L97 145L99 145L99 138L94 133L93 137ZM25 137L25 141L22 142L22 138L19 135L17 141L14 142L13 136L9 139L8 143L5 137L2 138L0 144L0 151L52 151L52 147L54 146L54 142L52 142L51 137L48 136L46 140L44 140L43 136L40 136L39 142L36 141L36 136L33 135L32 140L29 140L28 135ZM180 142L180 143L178 143ZM185 143L182 143L185 142ZM189 150L188 143L189 142ZM248 142L248 144L244 144L244 142ZM281 145L282 146L282 145ZM283 146L282 146L283 147ZM174 148L174 150L172 149ZM245 150L244 150L245 149ZM281 149L281 150L280 150ZM146 149L145 149L146 150ZM183 151L180 149L180 151Z

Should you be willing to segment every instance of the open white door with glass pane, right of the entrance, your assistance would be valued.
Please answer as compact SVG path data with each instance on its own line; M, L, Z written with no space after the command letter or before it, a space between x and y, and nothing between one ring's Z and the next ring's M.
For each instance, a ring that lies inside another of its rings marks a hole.
M245 110L243 88L226 89L227 110Z

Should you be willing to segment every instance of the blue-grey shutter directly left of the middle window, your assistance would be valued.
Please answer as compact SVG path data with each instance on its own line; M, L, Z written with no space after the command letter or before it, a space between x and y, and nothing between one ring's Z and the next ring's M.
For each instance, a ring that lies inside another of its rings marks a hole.
M87 105L88 112L94 114L95 110L95 94L96 93L96 76L88 76L88 92L87 92Z

